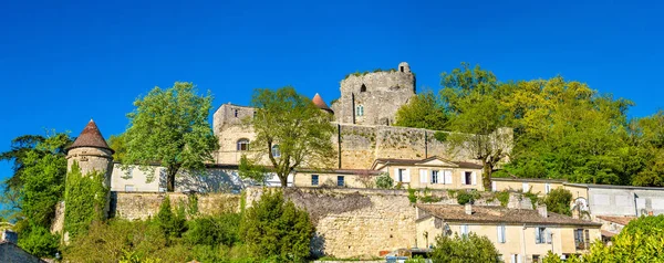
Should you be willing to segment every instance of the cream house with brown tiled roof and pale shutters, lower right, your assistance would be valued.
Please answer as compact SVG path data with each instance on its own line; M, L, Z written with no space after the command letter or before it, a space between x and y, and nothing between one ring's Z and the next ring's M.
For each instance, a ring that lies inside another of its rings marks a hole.
M546 207L417 204L417 246L432 248L438 235L487 236L511 263L541 262L549 251L567 257L587 253L601 238L600 223L548 212Z

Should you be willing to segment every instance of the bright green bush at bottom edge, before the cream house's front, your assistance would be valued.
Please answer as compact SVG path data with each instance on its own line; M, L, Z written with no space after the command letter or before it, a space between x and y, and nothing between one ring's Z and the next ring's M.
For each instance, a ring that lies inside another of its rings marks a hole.
M501 262L500 253L487 236L469 233L454 238L439 235L430 254L434 262Z

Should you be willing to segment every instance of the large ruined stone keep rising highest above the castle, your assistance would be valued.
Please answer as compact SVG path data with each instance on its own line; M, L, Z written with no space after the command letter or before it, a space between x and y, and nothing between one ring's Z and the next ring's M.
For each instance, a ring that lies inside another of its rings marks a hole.
M406 62L397 69L351 74L341 81L341 97L332 104L338 123L392 125L396 111L415 95L415 75Z

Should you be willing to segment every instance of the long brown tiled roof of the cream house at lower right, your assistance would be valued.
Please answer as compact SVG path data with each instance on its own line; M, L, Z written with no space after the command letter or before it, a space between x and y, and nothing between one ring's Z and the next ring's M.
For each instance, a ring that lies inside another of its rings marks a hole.
M504 207L473 206L473 214L466 214L464 206L458 204L417 204L432 217L449 222L468 223L511 223L511 224L558 224L601 227L601 223L573 219L571 217L548 212L541 217L537 210L508 209Z

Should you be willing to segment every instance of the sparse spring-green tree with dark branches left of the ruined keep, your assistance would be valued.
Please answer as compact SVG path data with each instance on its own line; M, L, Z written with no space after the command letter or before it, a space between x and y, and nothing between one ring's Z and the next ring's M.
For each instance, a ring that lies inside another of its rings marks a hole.
M252 160L260 164L267 156L281 187L287 187L288 176L298 167L328 168L332 164L332 116L310 98L290 86L277 91L259 88L251 105L257 112L246 122L256 132Z

